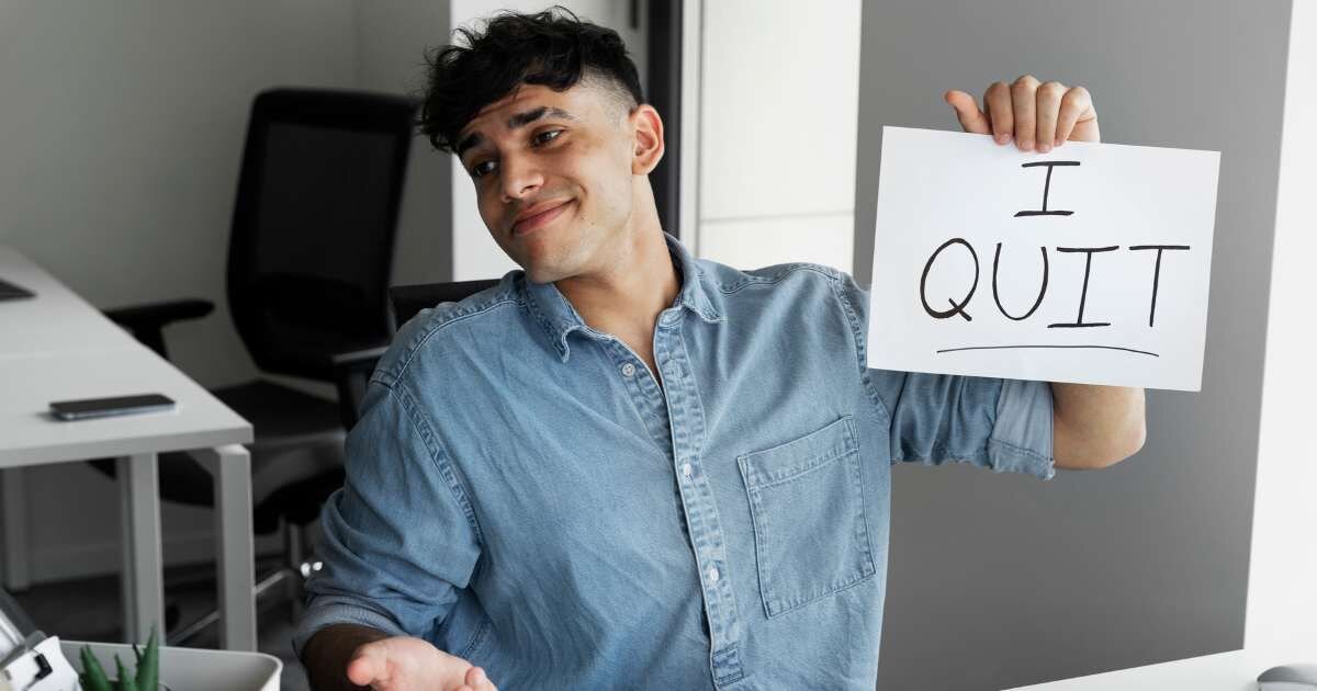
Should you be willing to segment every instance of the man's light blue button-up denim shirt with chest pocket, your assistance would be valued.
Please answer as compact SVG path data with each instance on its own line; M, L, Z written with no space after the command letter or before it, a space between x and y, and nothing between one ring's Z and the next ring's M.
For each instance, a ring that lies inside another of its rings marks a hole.
M873 688L892 463L1048 479L1051 390L868 370L851 276L666 240L653 375L522 271L399 330L299 652L356 623L502 690Z

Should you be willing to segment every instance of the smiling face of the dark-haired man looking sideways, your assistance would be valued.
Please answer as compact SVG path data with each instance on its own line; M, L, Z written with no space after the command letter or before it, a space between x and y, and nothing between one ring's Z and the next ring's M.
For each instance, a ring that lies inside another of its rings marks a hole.
M630 234L635 138L605 87L522 84L462 128L457 154L494 241L536 283L607 266Z

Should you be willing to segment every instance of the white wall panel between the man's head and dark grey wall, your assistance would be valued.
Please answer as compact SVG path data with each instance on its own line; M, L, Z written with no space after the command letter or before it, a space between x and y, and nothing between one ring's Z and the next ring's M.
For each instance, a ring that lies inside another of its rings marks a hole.
M694 246L852 270L860 3L706 0Z

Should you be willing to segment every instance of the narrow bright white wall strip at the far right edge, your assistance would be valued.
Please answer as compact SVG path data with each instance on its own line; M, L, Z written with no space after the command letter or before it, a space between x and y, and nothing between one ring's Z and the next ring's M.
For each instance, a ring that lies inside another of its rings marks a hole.
M1258 490L1249 562L1245 645L1317 659L1317 465L1312 396L1317 390L1308 317L1310 258L1317 257L1312 195L1317 190L1317 3L1293 5L1285 75L1276 240L1271 263L1267 359L1258 440Z

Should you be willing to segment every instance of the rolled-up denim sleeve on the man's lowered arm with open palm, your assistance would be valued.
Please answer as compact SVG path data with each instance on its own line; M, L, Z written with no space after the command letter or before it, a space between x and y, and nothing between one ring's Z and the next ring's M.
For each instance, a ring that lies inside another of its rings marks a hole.
M346 480L321 528L298 657L332 624L432 637L479 558L470 500L439 437L404 391L379 382L348 434Z

